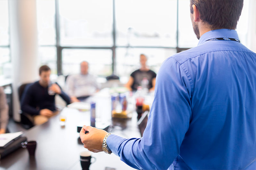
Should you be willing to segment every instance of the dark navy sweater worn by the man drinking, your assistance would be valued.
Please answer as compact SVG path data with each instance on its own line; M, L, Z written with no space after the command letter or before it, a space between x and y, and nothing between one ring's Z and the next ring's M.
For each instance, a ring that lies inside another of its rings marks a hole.
M56 83L57 84L57 83ZM58 85L58 84L57 84ZM60 86L60 85L59 85ZM60 88L61 89L61 88ZM60 97L70 103L70 98L61 89ZM36 81L33 84L27 85L24 89L21 98L21 110L30 115L39 115L41 109L56 110L55 95L48 94L48 86L43 87Z

